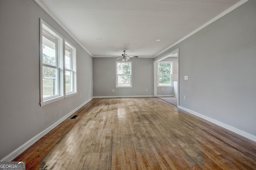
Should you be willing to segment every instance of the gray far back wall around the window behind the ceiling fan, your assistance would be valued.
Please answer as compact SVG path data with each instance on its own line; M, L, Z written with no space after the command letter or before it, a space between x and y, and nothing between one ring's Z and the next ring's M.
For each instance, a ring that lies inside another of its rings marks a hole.
M115 88L116 58L93 58L94 96L153 96L153 58L131 61L132 88Z

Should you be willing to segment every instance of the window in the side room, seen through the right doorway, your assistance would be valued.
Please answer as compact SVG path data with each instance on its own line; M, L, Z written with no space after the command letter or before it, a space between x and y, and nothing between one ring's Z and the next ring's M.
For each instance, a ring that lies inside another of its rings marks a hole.
M158 86L172 86L172 62L158 62Z

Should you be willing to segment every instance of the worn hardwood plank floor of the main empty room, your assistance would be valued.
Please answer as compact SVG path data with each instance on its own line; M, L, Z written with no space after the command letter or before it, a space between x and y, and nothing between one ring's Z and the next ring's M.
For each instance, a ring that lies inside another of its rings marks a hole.
M256 170L256 143L158 98L93 99L14 161L27 169Z

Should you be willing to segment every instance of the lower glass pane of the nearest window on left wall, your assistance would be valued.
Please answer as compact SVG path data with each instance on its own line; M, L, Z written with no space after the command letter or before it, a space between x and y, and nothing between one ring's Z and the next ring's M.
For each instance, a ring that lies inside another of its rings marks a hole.
M43 98L58 95L58 69L43 66Z

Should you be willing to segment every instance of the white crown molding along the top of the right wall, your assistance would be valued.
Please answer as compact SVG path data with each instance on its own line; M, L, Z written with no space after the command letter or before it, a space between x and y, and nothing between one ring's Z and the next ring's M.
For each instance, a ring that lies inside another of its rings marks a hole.
M201 29L203 29L204 27L210 25L211 23L213 23L214 21L220 19L221 17L223 17L224 15L228 14L229 12L231 12L232 10L236 9L237 7L241 6L242 4L244 4L245 2L247 2L248 0L241 0L240 2L234 4L233 6L231 6L230 8L228 8L227 10L225 10L224 12L222 12L221 14L219 14L218 16L216 16L215 18L213 18L212 20L206 22L204 25L202 25L201 27L199 27L198 29L192 31L191 33L189 33L188 35L186 35L185 37L183 37L182 39L180 39L179 41L177 41L176 43L172 44L170 47L167 47L166 49L164 49L163 51L161 51L160 53L158 53L157 55L155 55L154 57L164 53L166 50L174 47L174 45L177 45L178 43L180 43L181 41L183 41L184 39L187 39L188 37L190 37L191 35L197 33L198 31L200 31Z

